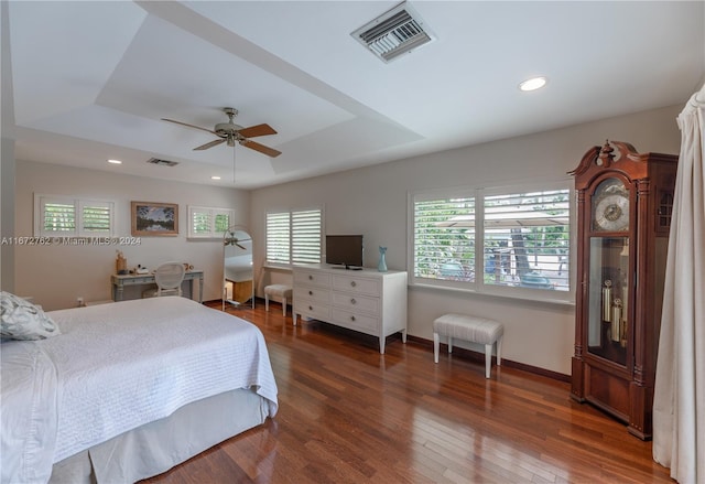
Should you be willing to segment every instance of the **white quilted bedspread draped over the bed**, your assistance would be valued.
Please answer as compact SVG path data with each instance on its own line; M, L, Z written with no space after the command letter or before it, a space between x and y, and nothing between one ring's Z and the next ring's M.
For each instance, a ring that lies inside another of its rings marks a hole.
M4 433L6 404L14 408L25 399L25 406L35 400L46 406L55 399L55 439L43 431L44 442L30 442L45 448L55 440L50 473L52 463L223 391L253 388L269 401L269 416L276 413L276 384L264 338L245 320L177 297L48 314L59 336L3 344L2 427ZM6 355L18 359L15 353L22 353L7 352L8 345L26 348L30 355L39 348L34 361L44 368L39 374L51 373L53 366L55 386L43 376L42 388L24 389L19 399L7 401L4 378L12 368L11 362L6 366ZM37 391L44 395L37 397ZM34 418L44 419L41 426L51 424L46 416ZM6 452L18 450L6 449L4 437L2 444L4 467Z

